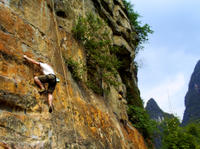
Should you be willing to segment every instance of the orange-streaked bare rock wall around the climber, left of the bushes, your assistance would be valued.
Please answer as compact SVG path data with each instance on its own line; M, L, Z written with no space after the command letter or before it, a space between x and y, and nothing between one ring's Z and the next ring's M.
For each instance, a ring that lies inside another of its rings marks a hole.
M0 0L0 149L146 149L143 137L123 126L103 97L72 79L61 58L85 61L84 50L59 29L50 7L50 0ZM33 80L41 72L24 54L46 60L61 80L52 114Z

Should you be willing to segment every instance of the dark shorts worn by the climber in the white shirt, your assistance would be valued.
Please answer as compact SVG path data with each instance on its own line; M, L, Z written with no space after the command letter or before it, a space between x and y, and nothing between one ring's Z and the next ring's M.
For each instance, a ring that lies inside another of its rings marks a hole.
M48 93L53 93L56 87L56 76L53 74L38 76L42 83L48 83Z

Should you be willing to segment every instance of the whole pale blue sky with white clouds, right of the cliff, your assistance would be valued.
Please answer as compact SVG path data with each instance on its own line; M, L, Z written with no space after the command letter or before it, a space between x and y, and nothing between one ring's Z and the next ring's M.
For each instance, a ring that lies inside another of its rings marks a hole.
M138 86L146 104L154 98L160 108L182 120L191 74L200 60L199 0L129 0L154 31L136 61Z

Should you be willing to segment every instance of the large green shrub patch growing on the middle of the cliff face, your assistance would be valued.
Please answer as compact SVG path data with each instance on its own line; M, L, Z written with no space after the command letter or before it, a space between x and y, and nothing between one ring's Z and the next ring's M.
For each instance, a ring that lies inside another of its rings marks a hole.
M100 18L89 14L85 18L80 17L73 28L74 37L86 52L86 84L98 94L103 94L102 83L108 88L119 85L116 77L121 64L115 55L118 48L111 44L110 32L105 26Z

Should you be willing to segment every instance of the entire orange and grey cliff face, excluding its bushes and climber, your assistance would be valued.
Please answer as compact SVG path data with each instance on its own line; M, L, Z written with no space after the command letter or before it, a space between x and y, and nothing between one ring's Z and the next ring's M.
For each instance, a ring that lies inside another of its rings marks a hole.
M106 97L78 85L63 61L85 59L71 30L86 12L107 19L113 44L124 47L122 85ZM0 148L146 149L138 131L120 122L127 114L118 92L133 92L137 80L131 31L121 0L0 0ZM24 54L52 65L61 80L52 114L33 81L40 72Z

